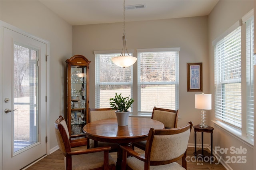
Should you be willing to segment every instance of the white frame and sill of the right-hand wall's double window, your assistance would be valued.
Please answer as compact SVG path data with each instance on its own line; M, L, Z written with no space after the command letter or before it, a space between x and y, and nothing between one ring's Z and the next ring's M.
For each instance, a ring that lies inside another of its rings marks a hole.
M226 131L227 133L231 134L232 136L236 137L238 140L244 142L245 144L247 144L250 147L254 146L254 135L248 135L248 124L247 124L247 119L248 119L248 106L247 106L247 91L248 91L248 86L246 85L246 83L248 83L247 81L247 77L246 75L248 74L248 64L246 62L247 61L247 45L246 44L246 21L253 17L254 15L254 10L251 10L250 12L248 12L245 16L242 17L241 20L239 20L238 22L236 22L233 26L231 26L228 30L226 30L226 32L224 32L221 36L219 36L218 38L216 38L216 40L214 40L212 42L213 45L216 45L216 43L218 41L220 41L222 38L224 38L225 36L227 36L230 32L232 32L233 30L235 30L236 27L241 26L241 89L242 89L242 116L241 116L241 121L242 121L242 127L241 128L237 128L234 127L228 123L224 123L222 121L219 121L218 119L215 118L215 120L213 121L215 125L217 125L218 127L220 127L222 130ZM253 28L252 28L253 29ZM253 40L252 40L253 41ZM251 43L251 42L250 42ZM251 46L253 47L253 46ZM250 49L251 51L253 51L253 49ZM215 47L214 47L214 51L215 51ZM255 59L255 55L251 56L254 57ZM216 59L216 56L214 54L214 58ZM254 61L255 62L255 61ZM214 66L215 68L215 79L216 79L216 66ZM254 65L254 68L256 68L256 66ZM250 70L251 71L251 70ZM255 76L254 76L255 78ZM225 83L225 82L224 82ZM255 86L254 86L255 87ZM215 82L215 90L216 90L216 82ZM215 96L216 98L216 96ZM254 102L255 103L255 102ZM246 114L245 114L246 113ZM215 111L216 114L216 111ZM252 118L254 119L254 118ZM252 120L254 121L254 120ZM254 128L254 127L251 127Z

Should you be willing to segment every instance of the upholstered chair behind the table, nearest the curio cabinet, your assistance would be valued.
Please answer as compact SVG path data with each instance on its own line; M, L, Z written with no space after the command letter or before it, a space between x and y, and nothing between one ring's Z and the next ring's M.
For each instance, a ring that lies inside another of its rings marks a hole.
M88 119L88 123L93 121L98 121L102 119L112 119L116 118L116 110L112 108L89 108L89 115L86 119ZM117 152L119 145L117 143L108 143L108 142L100 142L96 140L92 140L90 138L87 139L87 148L94 148L94 147L103 147L103 146L110 146L111 150L109 152Z

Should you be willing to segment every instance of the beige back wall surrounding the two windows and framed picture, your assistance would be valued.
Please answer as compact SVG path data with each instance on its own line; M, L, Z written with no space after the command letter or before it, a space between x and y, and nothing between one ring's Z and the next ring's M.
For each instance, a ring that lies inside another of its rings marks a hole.
M203 90L209 92L208 76L208 18L191 17L142 22L126 22L127 48L180 47L180 119L178 126L193 121L200 123L200 110L195 109L194 94L187 92L186 63L203 63ZM122 48L123 23L73 26L73 54L85 55L90 64L90 107L95 107L95 56L94 50L114 50ZM136 62L137 64L137 62ZM136 75L137 65L133 73ZM134 89L137 89L134 83ZM134 93L136 102L137 94ZM153 109L154 106L152 106ZM207 136L207 135L206 135ZM190 143L194 143L193 133ZM208 144L208 138L205 139Z

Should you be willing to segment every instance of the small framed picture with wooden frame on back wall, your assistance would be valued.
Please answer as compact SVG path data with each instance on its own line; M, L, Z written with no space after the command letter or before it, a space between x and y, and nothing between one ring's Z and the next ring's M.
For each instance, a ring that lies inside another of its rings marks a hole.
M188 91L203 91L203 63L187 63Z

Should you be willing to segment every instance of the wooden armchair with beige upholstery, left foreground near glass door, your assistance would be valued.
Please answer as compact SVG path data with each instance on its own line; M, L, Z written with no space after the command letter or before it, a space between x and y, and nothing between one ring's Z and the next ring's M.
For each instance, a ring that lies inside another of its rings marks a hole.
M108 153L110 147L72 150L66 121L60 116L55 121L55 134L64 154L65 170L115 170L116 162Z

